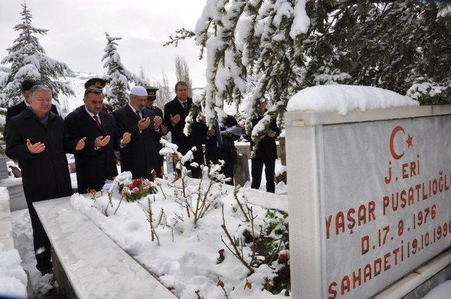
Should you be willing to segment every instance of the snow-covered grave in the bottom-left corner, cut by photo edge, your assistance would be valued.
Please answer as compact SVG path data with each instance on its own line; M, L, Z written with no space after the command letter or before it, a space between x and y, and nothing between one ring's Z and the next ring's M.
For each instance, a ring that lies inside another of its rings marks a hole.
M20 262L14 247L8 191L0 187L0 298L27 297L27 274Z

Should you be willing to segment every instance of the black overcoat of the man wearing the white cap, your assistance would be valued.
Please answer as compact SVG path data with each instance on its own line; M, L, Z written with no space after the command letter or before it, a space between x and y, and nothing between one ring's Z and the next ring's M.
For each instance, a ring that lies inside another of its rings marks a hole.
M121 171L132 172L133 179L145 177L152 179L152 170L157 171L155 139L161 135L154 130L155 114L152 110L141 110L142 118L149 117L149 127L140 132L137 122L139 117L133 112L130 105L125 105L113 111L114 119L118 127L119 135L124 132L132 134L132 139L127 146L121 149Z

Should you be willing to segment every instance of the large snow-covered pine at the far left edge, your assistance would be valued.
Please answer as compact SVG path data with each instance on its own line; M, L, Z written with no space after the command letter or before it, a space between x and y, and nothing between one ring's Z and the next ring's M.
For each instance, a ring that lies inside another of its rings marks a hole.
M45 55L44 48L39 44L37 34L45 35L49 30L32 26L32 14L27 5L21 4L23 22L13 29L20 32L13 46L6 49L8 55L2 59L1 64L11 63L11 72L0 79L0 105L13 106L22 101L20 84L24 79L36 79L49 87L54 99L58 101L58 94L66 96L75 95L73 90L58 77L65 73L72 73L66 63L61 63Z

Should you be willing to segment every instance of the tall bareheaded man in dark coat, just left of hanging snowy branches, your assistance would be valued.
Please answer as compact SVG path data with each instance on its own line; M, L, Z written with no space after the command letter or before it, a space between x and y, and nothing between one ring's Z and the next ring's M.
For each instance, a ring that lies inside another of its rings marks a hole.
M201 176L200 167L192 167L192 162L198 165L204 164L204 151L202 144L206 139L206 125L203 122L197 122L197 114L193 116L191 132L188 136L183 133L185 128L185 117L187 117L192 106L192 98L188 98L188 86L185 82L175 84L175 98L164 106L163 123L171 132L172 143L178 146L178 151L185 155L187 151L195 146L194 159L187 161L185 167L191 170L192 177Z

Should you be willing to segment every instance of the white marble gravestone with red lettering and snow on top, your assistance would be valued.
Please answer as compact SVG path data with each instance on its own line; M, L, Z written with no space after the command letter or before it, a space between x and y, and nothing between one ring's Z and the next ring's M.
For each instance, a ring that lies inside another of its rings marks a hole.
M451 106L328 85L285 124L292 298L370 298L450 247Z

